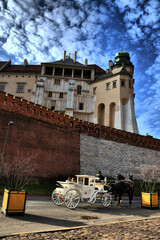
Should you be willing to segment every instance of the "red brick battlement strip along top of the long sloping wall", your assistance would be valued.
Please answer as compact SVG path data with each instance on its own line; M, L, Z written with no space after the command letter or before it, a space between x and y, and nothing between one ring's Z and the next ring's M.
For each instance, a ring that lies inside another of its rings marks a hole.
M50 123L72 132L85 133L89 136L126 143L142 148L157 151L160 150L160 139L155 139L152 136L143 136L81 121L3 92L0 92L0 109L16 113L18 115L23 115L30 119L36 119L39 120L39 122Z

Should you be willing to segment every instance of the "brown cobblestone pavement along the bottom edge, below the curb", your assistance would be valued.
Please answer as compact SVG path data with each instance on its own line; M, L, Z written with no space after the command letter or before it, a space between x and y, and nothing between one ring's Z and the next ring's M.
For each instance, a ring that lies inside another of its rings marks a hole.
M160 239L160 218L119 222L106 225L90 226L67 231L30 233L2 238L3 240L142 240Z

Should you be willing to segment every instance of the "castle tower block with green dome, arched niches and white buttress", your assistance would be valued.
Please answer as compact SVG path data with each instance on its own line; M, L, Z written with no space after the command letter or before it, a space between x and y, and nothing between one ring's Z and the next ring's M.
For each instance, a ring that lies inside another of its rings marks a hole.
M90 83L95 100L93 122L138 133L134 111L134 66L128 52L116 53L106 74Z

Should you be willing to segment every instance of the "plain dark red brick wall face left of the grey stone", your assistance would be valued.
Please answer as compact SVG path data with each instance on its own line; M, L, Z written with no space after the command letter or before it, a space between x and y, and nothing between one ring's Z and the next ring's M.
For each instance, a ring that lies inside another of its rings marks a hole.
M36 154L36 177L60 179L79 174L78 133L0 109L0 153L3 152L9 121L13 121L14 125L9 130L5 162L11 161L19 150L24 156L27 153Z

